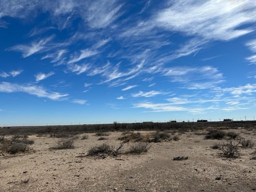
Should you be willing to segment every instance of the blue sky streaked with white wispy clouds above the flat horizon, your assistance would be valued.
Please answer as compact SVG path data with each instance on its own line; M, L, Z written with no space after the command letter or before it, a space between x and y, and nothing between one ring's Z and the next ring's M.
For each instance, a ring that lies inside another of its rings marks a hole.
M0 0L0 125L256 116L255 0Z

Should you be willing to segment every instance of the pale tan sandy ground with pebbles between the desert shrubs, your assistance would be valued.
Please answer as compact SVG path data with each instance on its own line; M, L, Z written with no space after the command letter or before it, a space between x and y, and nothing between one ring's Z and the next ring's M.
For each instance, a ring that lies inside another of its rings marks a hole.
M256 141L256 132L241 132ZM143 131L142 134L149 132ZM240 148L239 158L220 156L210 147L220 142L205 140L204 135L186 132L179 141L154 143L149 152L140 155L108 156L105 159L76 157L93 146L107 142L117 146L121 132L110 132L108 140L88 134L75 140L75 148L50 150L58 138L29 136L35 141L34 152L0 156L1 192L178 192L216 191L249 192L256 190L256 154L253 148ZM124 144L129 148L133 142ZM174 161L176 156L188 160ZM220 176L220 180L216 177ZM29 179L29 180L28 180ZM27 183L24 181L28 180Z

